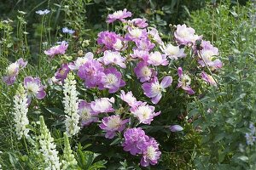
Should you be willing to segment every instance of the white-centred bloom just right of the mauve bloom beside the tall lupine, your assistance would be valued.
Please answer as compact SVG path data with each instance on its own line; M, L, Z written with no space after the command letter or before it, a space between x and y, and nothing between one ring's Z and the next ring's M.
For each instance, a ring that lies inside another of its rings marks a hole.
M92 101L90 107L93 115L98 115L99 113L113 112L114 109L112 104L114 103L114 98L100 98Z

